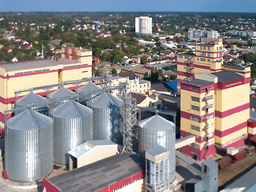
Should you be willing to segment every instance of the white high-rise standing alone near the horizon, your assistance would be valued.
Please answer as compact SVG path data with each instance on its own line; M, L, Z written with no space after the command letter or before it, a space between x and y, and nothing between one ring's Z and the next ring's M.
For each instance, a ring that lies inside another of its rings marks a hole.
M152 18L150 17L135 18L135 33L152 34Z

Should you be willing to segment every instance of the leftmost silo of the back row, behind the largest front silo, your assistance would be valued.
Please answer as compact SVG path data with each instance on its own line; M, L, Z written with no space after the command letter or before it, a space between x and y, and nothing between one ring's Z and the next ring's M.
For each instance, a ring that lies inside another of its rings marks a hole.
M30 94L26 94L26 96L19 98L17 102L15 102L15 108L18 107L25 107L30 104L33 104L34 102L46 102L47 98L43 98L39 94L35 94L34 92L30 92ZM34 106L30 108L31 110L36 110L41 114L47 114L48 113L48 107L47 105L42 106ZM17 110L15 111L15 114L20 114L24 110Z

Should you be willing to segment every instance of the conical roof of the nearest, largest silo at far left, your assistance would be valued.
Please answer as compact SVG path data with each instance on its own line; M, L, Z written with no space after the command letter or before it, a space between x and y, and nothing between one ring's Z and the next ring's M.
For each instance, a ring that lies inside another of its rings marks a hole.
M25 110L6 121L6 126L13 130L38 130L49 126L52 118L34 110Z

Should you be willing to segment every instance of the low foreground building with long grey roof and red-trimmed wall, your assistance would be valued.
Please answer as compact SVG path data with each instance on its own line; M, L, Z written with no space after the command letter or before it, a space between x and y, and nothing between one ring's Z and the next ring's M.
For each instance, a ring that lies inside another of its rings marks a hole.
M123 152L71 170L54 178L43 178L44 192L143 191L145 161L138 154Z

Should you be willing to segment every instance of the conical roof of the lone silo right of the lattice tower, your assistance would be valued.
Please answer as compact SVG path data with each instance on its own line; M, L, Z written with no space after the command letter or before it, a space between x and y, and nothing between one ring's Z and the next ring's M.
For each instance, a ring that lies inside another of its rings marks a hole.
M148 129L148 130L168 130L175 129L175 125L173 122L162 118L160 115L156 114L150 118L146 118L140 122L138 122L138 126Z

